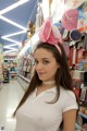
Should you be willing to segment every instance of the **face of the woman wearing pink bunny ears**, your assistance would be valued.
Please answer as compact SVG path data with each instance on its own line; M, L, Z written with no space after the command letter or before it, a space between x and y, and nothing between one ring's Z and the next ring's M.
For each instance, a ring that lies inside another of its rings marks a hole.
M37 49L34 55L35 70L41 81L54 80L55 72L60 66L57 63L51 51Z

